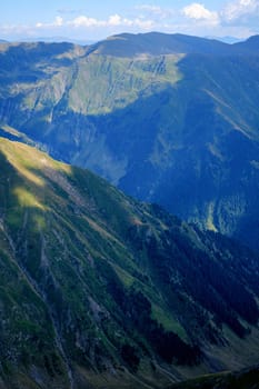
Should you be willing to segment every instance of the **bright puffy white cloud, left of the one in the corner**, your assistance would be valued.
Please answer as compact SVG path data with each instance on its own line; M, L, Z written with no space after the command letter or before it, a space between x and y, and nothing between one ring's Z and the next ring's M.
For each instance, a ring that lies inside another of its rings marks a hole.
M182 14L186 18L193 19L196 21L207 21L211 24L219 23L219 16L216 11L208 10L203 4L193 2L182 9Z

